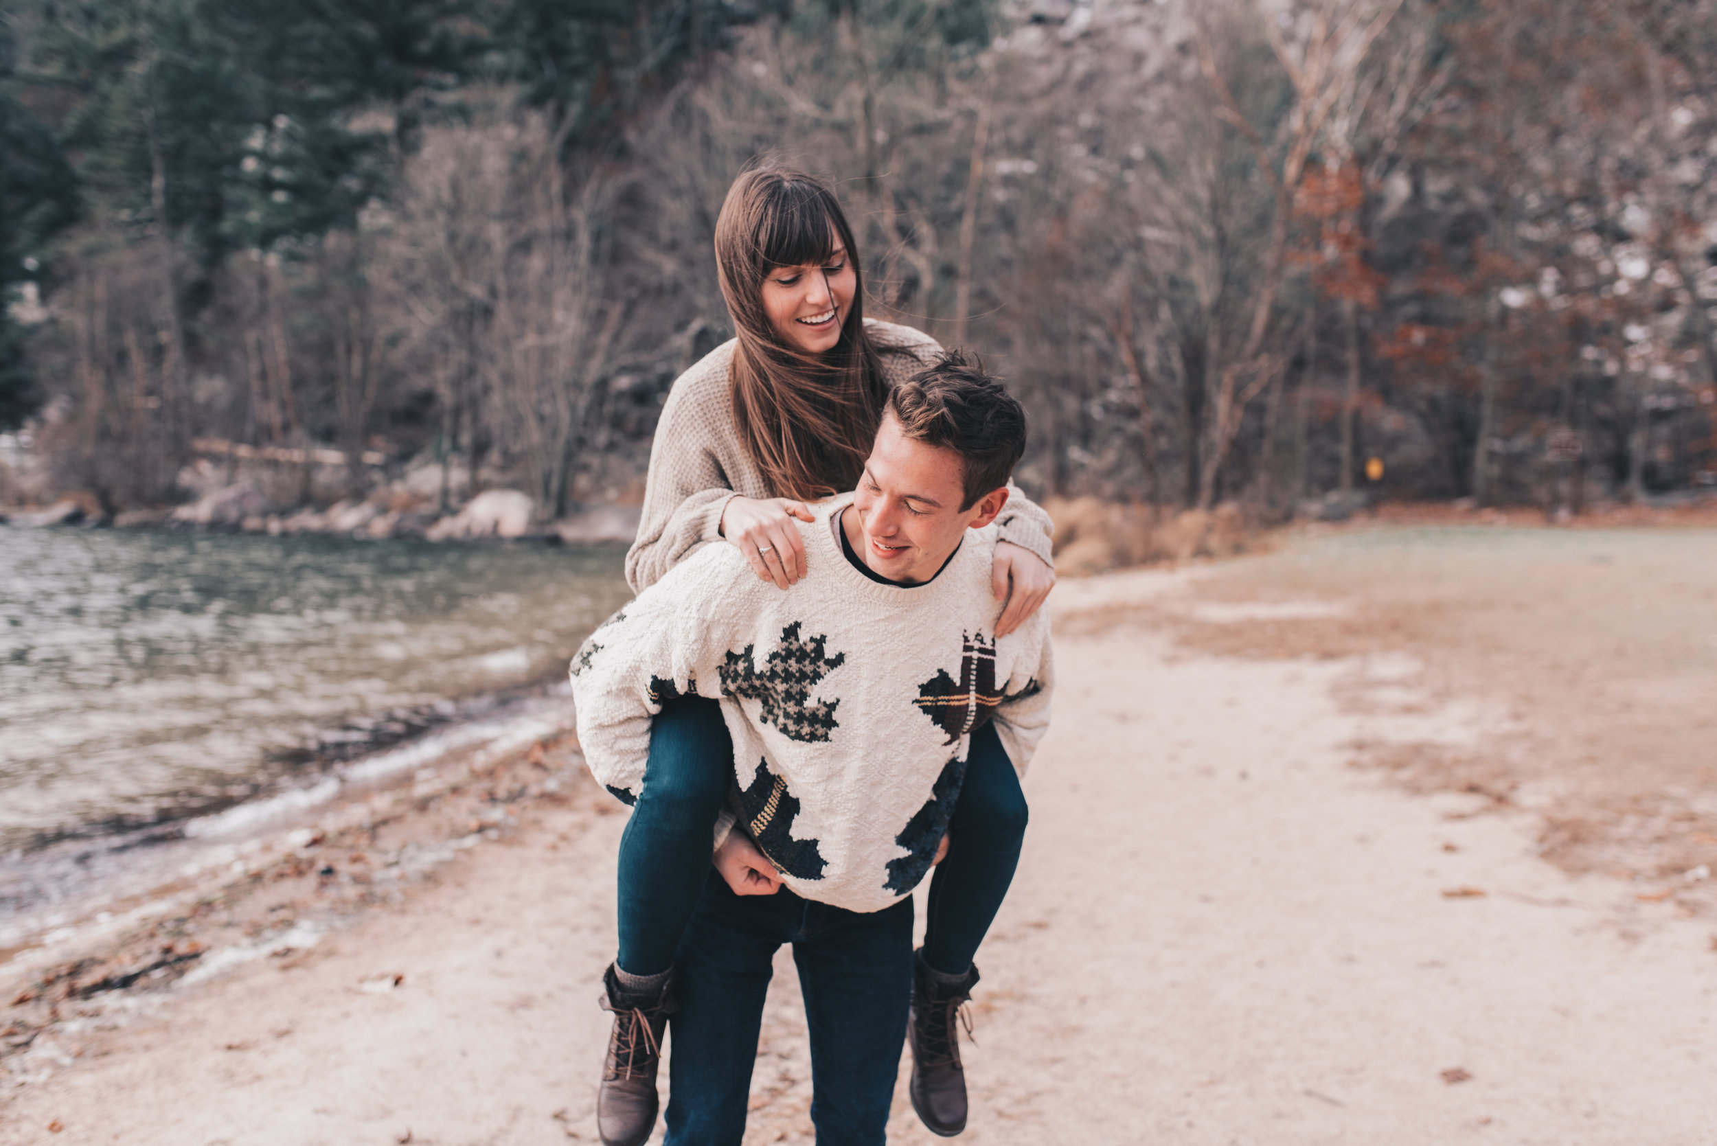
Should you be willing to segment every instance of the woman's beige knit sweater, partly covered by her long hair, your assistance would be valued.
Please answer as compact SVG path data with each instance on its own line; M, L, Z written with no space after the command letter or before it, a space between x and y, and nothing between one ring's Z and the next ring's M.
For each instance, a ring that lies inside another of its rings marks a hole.
M908 350L883 355L889 386L912 377L941 352L934 338L910 326L865 319L865 329L877 347ZM661 408L644 486L644 518L627 552L632 592L644 592L702 546L721 540L721 513L730 498L773 496L733 419L728 365L737 341L721 343L675 379ZM1047 563L1054 523L1011 482L1010 489L1008 506L996 522L998 535Z

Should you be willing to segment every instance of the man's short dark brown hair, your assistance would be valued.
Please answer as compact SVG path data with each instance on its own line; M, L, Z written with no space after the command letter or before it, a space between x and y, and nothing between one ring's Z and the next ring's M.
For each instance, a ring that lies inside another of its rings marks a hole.
M946 350L888 393L886 413L912 441L953 449L965 461L965 513L1008 484L1025 453L1025 410L977 355Z

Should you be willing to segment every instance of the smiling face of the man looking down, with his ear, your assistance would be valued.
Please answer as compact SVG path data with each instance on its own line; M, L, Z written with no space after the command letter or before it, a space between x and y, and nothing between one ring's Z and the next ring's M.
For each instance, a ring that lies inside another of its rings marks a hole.
M1008 489L1001 487L962 510L963 486L965 460L958 453L912 441L895 415L884 413L853 496L855 513L843 515L841 528L874 573L891 582L927 582L968 528L989 525L1008 503Z

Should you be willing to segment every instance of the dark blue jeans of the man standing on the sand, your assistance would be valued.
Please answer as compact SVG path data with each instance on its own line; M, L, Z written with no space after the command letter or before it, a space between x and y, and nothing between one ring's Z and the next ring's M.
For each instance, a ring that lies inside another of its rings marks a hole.
M740 1146L774 952L793 945L810 1028L817 1146L883 1146L912 998L912 899L858 914L735 896L711 872L675 952L664 1146Z

